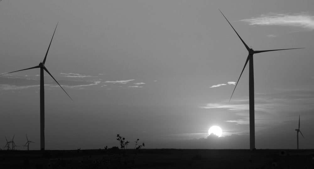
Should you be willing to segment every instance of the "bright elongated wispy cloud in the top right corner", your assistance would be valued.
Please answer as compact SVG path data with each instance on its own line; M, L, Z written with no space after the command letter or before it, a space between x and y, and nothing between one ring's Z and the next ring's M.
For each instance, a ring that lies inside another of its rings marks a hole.
M295 14L278 14L269 13L261 15L257 18L243 19L249 25L280 25L280 26L294 26L314 30L314 16L307 13Z

